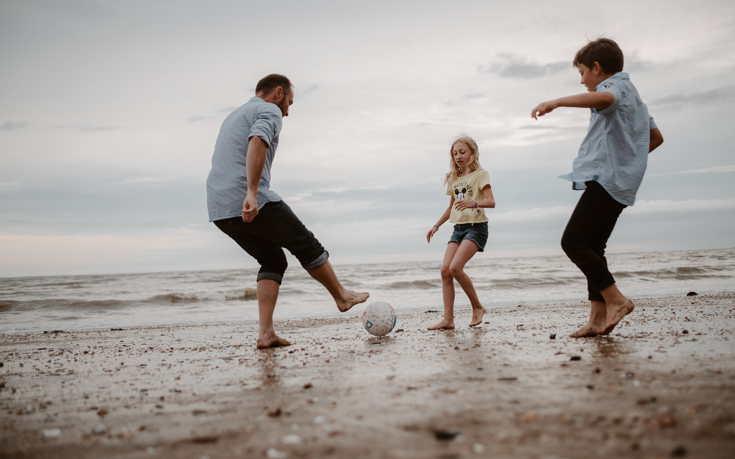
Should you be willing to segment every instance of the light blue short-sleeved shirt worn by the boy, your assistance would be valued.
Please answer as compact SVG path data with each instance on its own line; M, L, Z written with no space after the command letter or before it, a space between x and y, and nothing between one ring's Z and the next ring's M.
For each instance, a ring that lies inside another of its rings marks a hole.
M572 181L573 189L585 189L585 181L597 181L615 200L632 206L648 163L650 130L656 129L656 123L628 73L615 73L595 90L612 93L615 101L604 109L591 109L587 136L572 172L559 177Z

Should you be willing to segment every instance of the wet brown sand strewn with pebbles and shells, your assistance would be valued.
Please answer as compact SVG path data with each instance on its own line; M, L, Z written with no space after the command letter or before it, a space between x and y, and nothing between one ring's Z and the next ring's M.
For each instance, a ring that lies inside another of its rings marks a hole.
M0 336L0 456L735 457L735 294L488 309Z

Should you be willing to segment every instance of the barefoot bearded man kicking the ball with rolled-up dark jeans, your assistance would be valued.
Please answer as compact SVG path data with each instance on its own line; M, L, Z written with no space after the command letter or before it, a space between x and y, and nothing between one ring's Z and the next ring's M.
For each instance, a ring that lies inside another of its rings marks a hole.
M209 221L260 264L259 349L290 344L273 329L273 309L287 267L283 247L326 287L340 311L348 311L370 296L342 286L329 263L329 253L270 189L270 166L291 104L293 86L289 79L276 73L261 79L255 97L222 123L207 178Z

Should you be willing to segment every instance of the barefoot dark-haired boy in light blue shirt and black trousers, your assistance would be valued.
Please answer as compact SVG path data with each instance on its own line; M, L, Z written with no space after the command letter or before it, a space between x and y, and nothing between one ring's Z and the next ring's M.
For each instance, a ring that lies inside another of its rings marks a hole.
M617 43L609 38L590 41L577 51L573 65L589 92L542 102L531 118L560 106L592 112L573 170L560 176L573 189L584 189L562 236L564 253L587 277L589 322L570 334L578 338L607 335L633 311L633 302L617 289L607 269L605 247L620 212L635 202L648 153L664 138L623 73L623 51Z

